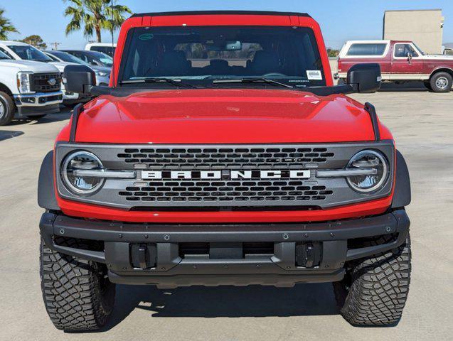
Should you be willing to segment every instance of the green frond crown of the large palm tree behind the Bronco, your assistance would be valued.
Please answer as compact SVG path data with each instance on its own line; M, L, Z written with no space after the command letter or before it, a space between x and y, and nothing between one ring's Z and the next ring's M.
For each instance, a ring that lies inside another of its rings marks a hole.
M70 2L65 9L65 16L71 21L66 26L66 35L83 28L83 35L90 37L96 33L97 42L101 42L101 31L119 28L125 13L132 13L127 6L113 4L110 0L63 0ZM113 20L112 20L113 19Z

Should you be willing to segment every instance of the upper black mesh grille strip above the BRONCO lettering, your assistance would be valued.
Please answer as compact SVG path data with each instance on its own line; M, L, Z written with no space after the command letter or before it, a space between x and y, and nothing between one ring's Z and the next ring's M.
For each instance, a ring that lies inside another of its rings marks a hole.
M334 158L327 148L142 148L118 158L147 169L295 169Z

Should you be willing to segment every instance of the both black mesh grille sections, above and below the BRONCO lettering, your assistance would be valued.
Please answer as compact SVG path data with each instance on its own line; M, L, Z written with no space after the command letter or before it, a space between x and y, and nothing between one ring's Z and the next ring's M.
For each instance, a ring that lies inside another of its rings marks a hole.
M151 170L288 170L325 163L327 148L127 148L118 158ZM332 195L325 186L294 179L159 180L130 186L119 195L130 202L292 202Z

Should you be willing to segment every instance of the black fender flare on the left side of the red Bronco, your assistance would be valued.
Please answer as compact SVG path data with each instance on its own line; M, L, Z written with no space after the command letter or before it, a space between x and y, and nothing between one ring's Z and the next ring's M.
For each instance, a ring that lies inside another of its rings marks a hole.
M47 153L39 171L38 205L46 210L60 210L53 182L53 151Z

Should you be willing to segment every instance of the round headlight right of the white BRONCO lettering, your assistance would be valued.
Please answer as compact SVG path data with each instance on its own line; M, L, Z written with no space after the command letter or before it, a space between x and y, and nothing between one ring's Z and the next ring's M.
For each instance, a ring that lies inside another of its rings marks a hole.
M351 158L349 169L362 169L369 174L348 176L348 184L361 193L373 192L381 188L388 178L388 163L383 154L377 151L360 151Z

